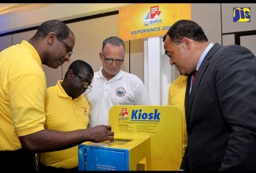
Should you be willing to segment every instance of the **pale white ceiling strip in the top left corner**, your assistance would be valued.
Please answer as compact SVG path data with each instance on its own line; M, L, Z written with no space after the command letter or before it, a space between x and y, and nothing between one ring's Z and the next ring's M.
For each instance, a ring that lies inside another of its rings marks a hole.
M41 8L39 8L41 5ZM93 14L118 10L130 3L48 3L26 4L20 8L28 8L24 12L10 13L0 17L0 34L24 28L39 26L46 20L70 20L87 17ZM35 6L35 8L33 8Z

